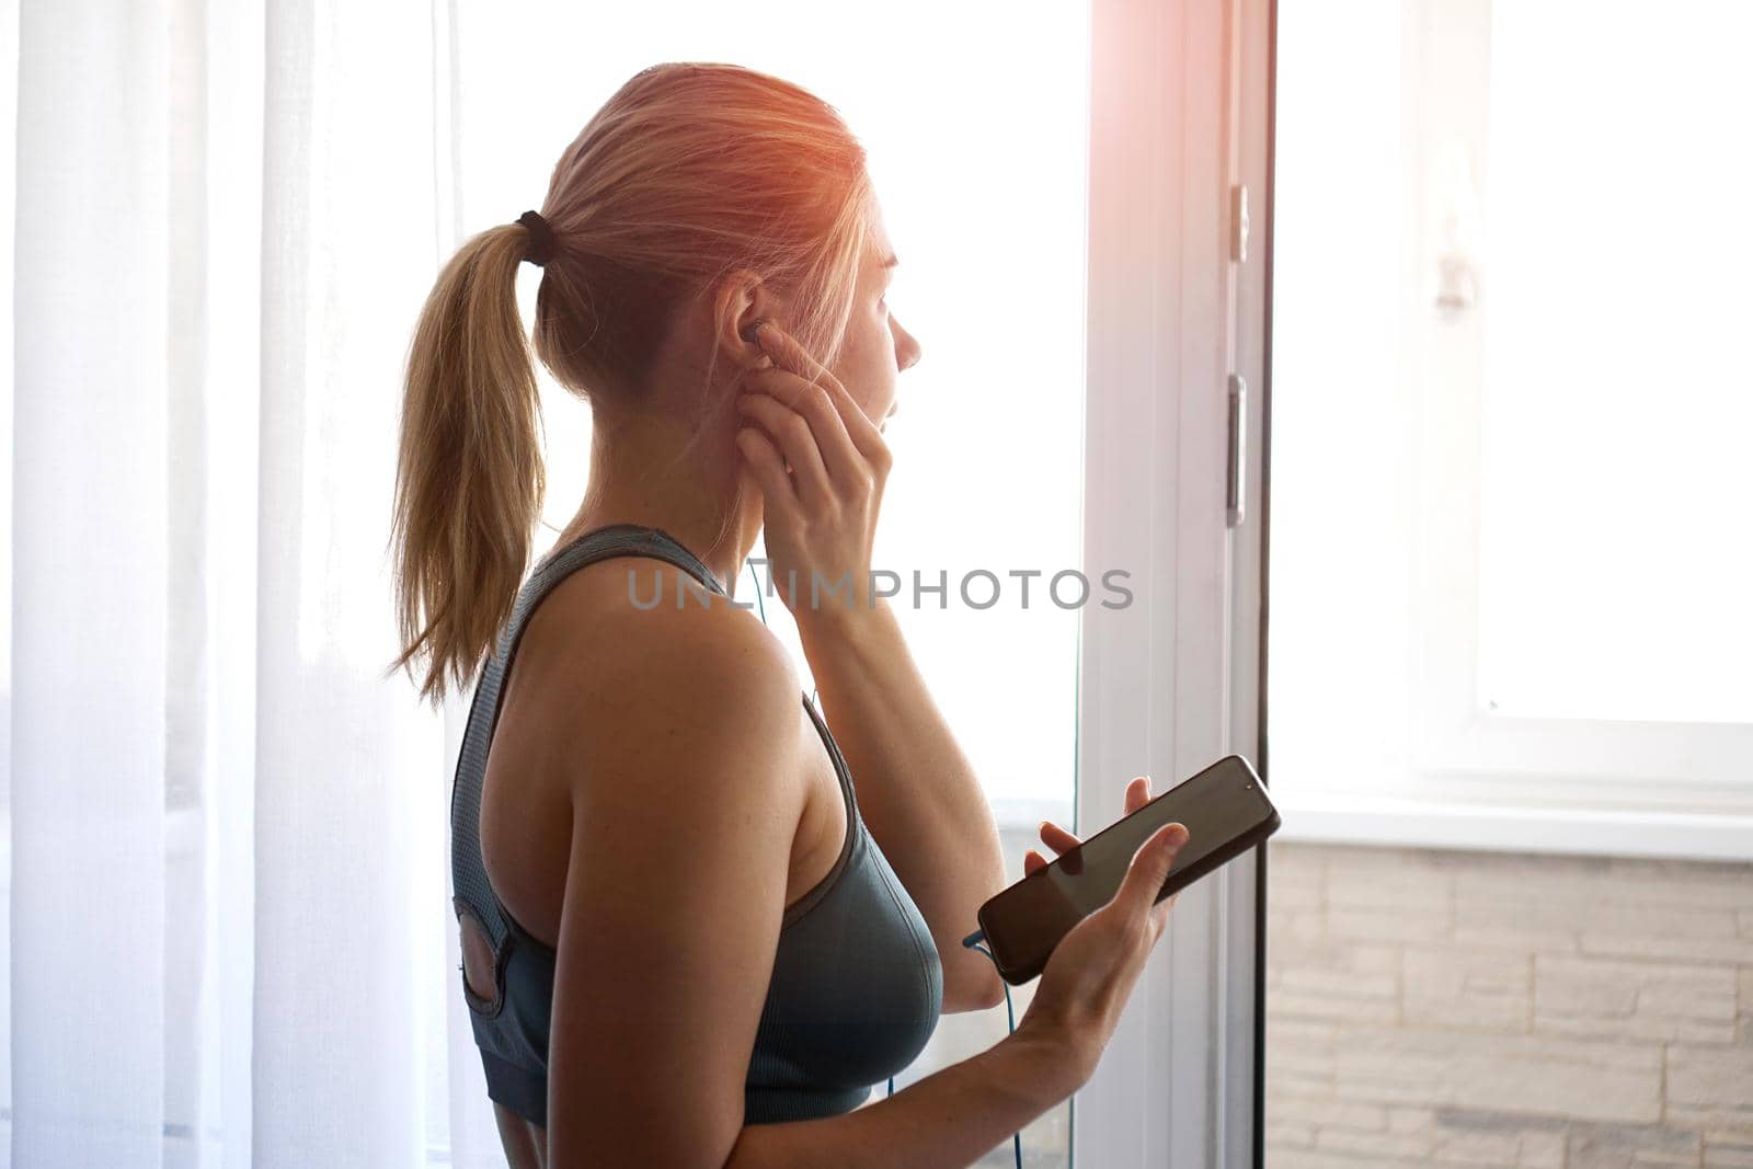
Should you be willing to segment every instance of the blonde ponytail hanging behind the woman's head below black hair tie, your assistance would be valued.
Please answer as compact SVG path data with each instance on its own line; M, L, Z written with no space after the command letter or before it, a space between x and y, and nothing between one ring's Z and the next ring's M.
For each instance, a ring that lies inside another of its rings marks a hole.
M401 655L424 654L421 698L461 691L493 652L529 566L547 489L542 403L517 315L521 224L489 228L452 256L408 354L396 461L396 620Z

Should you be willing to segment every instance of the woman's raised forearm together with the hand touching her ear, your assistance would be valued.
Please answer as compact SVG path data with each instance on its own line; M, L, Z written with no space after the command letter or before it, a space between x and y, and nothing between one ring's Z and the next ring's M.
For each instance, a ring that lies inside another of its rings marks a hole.
M736 445L761 484L773 580L784 582L798 617L859 810L938 943L943 1010L996 1006L997 973L961 945L975 910L1004 887L992 808L887 601L864 599L889 445L840 379L785 329L761 322L756 340L773 366L745 375L736 405L759 428L738 431ZM850 606L819 603L836 585Z

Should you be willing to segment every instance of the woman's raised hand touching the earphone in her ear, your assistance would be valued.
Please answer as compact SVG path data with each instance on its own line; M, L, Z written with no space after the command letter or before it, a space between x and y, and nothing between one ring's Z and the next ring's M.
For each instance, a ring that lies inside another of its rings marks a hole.
M736 447L766 499L773 587L799 626L869 608L889 447L796 338L764 321L756 340L773 366L745 379L736 408L754 424L736 431Z

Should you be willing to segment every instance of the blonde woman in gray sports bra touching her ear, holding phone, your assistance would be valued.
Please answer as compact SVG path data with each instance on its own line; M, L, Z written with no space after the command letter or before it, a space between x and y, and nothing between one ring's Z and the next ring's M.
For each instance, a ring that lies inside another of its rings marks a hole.
M535 354L593 407L589 489L528 580L522 259L543 266ZM997 832L868 587L884 419L920 356L892 266L831 107L659 65L566 149L542 214L465 244L422 310L396 664L424 655L435 698L480 668L452 868L514 1165L966 1165L1087 1080L1164 929L1178 825L1064 939L1015 1034L859 1108L941 1011L1003 994L959 945L1006 883ZM763 528L838 741L729 598ZM812 603L812 580L847 587ZM1134 780L1127 810L1145 799Z

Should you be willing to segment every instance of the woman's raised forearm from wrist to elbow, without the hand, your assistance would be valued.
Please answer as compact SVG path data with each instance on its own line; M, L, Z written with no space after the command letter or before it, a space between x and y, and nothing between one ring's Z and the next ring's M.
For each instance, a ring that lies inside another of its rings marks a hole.
M824 717L857 783L859 811L931 927L943 1010L996 1006L990 959L962 946L1004 889L992 806L926 689L889 601L799 606L798 633Z

